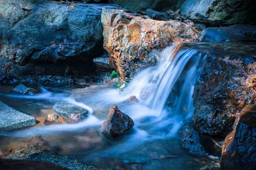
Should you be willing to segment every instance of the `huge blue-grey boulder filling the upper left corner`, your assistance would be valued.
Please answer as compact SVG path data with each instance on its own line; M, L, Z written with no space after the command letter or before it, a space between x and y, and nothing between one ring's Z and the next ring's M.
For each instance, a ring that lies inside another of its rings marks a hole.
M88 62L103 52L102 8L120 9L110 4L1 1L0 56L20 65Z

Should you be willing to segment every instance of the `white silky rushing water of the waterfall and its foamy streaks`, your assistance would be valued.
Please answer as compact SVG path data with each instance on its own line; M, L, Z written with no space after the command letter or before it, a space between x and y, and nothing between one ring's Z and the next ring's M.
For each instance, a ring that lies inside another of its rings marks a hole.
M108 108L117 104L122 112L134 120L133 130L118 140L118 143L112 141L108 147L99 148L94 152L75 152L70 154L71 157L84 162L93 162L99 157L123 158L132 148L141 144L174 138L182 124L193 114L194 84L200 77L206 58L204 53L194 48L182 49L172 58L174 48L175 46L169 46L160 52L158 64L140 71L122 91L100 87L82 96L64 95L47 90L36 96L5 94L7 97L30 100L51 102L63 100L88 109L90 116L77 124L32 127L14 132L0 132L0 135L31 137L36 134L45 136L60 134L61 136L64 133L83 132L91 127L99 129L104 119L97 118L96 115L102 112L106 115ZM139 99L138 103L124 102L132 95ZM58 141L58 138L55 140Z

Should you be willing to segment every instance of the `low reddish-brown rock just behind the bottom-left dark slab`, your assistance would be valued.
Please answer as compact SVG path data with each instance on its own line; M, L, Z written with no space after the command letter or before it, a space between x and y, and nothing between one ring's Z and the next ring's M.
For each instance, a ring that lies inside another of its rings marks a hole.
M44 140L41 135L37 135L33 136L32 138L20 138L18 140L15 140L14 142L11 142L6 146L6 149L3 149L4 156L13 154L28 146L36 146L44 149L51 148L50 144L46 140Z

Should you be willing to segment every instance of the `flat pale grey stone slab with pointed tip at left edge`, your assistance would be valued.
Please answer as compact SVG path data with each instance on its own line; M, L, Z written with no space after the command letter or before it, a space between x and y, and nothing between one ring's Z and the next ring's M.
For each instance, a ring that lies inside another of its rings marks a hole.
M0 131L34 126L36 119L0 102Z

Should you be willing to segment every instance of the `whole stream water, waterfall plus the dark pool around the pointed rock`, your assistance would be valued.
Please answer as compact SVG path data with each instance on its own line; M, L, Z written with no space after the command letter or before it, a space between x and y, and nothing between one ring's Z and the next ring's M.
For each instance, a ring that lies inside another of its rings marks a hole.
M158 64L138 72L124 90L95 85L84 89L42 87L42 93L35 96L1 93L3 102L35 117L59 101L86 108L89 116L76 124L0 132L6 138L0 147L8 140L40 134L55 152L98 168L204 169L180 147L178 130L192 118L194 84L207 55L184 48L172 58L174 48L172 45L160 52ZM130 96L139 102L126 102ZM116 140L99 134L113 104L134 120L132 130Z

